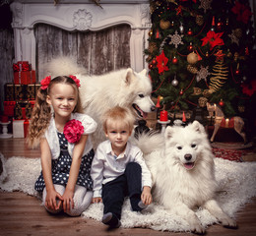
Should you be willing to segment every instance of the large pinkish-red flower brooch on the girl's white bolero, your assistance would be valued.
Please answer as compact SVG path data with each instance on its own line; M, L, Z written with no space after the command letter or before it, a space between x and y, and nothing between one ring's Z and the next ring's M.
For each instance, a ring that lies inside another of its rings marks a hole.
M64 127L64 136L69 143L78 143L84 134L84 126L79 120L70 120Z

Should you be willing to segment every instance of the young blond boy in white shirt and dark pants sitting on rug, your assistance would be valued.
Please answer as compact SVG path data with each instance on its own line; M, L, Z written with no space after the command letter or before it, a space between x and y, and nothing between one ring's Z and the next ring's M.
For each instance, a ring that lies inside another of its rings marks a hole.
M140 148L128 141L134 121L131 111L119 106L107 110L102 117L108 140L98 145L93 160L92 202L103 202L102 222L110 227L120 227L121 210L126 196L129 196L134 211L141 211L152 203L151 172Z

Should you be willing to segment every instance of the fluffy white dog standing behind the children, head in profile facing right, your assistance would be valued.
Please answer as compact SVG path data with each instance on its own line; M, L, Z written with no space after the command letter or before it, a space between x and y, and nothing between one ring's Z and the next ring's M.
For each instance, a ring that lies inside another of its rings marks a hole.
M100 117L106 109L116 105L128 107L139 118L146 118L148 112L155 110L151 99L152 85L146 70L136 73L128 68L101 76L88 76L84 68L67 57L53 59L47 69L52 76L74 75L80 80L84 111L92 116L98 125L93 134L95 148L105 139Z

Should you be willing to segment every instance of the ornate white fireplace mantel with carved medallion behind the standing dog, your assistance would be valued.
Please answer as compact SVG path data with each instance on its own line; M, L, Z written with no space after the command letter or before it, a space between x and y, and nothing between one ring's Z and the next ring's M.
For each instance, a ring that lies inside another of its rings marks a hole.
M131 67L135 71L145 68L144 49L150 22L150 5L147 0L102 0L100 5L91 0L15 0L13 12L15 60L30 61L35 69L35 37L33 28L44 23L69 31L100 30L119 24L131 27Z

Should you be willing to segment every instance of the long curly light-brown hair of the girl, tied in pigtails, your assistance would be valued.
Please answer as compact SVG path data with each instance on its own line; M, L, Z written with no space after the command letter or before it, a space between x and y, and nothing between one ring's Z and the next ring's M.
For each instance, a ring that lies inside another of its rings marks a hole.
M77 84L73 79L67 76L58 76L52 79L47 89L38 89L35 104L32 109L32 119L30 122L27 144L30 148L36 148L39 145L41 137L44 135L51 118L51 106L47 103L46 98L51 88L56 84L66 84L72 86L78 95L77 105L73 112L82 113L82 103Z

